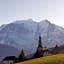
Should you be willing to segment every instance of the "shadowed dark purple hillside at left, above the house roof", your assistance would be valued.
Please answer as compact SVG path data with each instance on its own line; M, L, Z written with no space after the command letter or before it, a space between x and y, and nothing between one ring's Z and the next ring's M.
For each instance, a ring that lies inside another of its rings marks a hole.
M20 54L20 50L15 47L0 44L0 60L2 60L6 56L18 56Z

